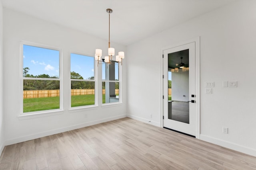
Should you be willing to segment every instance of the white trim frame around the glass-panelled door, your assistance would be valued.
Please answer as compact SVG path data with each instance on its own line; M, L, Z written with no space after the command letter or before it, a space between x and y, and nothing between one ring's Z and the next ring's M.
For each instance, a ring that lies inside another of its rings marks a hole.
M195 57L196 57L196 138L200 139L200 37L192 38L187 41L183 41L180 43L176 43L173 45L170 45L168 47L164 47L161 49L161 112L160 112L160 126L164 127L164 58L162 57L164 55L164 50L171 49L174 47L178 47L181 45L189 44L189 43L195 43ZM165 96L168 97L168 96Z

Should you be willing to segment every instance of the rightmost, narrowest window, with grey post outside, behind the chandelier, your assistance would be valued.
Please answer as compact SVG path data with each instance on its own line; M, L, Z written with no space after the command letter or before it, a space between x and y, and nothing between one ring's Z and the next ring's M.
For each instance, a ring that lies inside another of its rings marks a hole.
M119 63L102 64L102 103L120 102Z

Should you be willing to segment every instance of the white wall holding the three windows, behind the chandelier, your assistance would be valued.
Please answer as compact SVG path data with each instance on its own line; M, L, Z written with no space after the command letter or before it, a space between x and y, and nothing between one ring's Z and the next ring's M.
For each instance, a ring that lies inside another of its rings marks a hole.
M88 25L90 26L90 25ZM107 38L107 37L106 37ZM60 114L20 118L20 41L30 41L62 48L63 52L63 109ZM116 51L126 47L112 43ZM108 41L74 29L39 20L19 12L4 9L4 116L6 145L45 135L84 127L120 117L126 117L126 61L123 62L122 104L98 106L69 111L69 53L70 50L94 56L95 49L108 49ZM99 66L101 74L101 65ZM98 84L101 87L101 83ZM99 90L100 91L100 90ZM100 96L100 95L99 95ZM100 100L99 100L100 101Z

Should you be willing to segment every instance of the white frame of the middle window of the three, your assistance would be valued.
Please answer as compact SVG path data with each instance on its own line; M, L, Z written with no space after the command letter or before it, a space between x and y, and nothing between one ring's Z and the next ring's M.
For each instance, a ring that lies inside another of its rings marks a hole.
M92 57L94 61L94 80L87 80L87 79L71 79L71 54L76 54L76 55L83 55L86 57ZM95 58L93 55L86 54L83 52L79 51L70 51L69 52L69 110L77 110L77 109L88 109L92 107L98 106L98 69L97 68L97 63L95 61ZM76 107L71 107L71 81L85 81L85 82L94 82L94 105L86 105L86 106L76 106Z

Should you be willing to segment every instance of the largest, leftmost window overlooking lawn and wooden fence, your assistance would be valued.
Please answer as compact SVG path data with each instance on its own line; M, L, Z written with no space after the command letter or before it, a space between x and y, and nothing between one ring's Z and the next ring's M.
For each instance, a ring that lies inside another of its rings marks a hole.
M22 43L22 113L38 113L62 108L60 92L61 50Z

